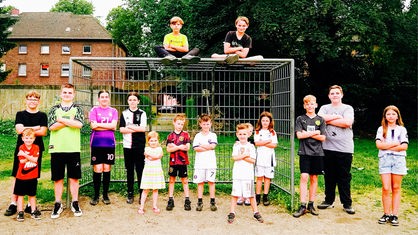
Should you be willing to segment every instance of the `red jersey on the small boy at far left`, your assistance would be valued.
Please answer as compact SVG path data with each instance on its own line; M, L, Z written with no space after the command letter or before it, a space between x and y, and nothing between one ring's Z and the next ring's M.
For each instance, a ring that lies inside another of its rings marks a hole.
M39 157L39 146L36 144L32 144L31 149L28 149L26 145L22 144L19 147L19 151L24 151L26 154L32 157ZM22 159L26 159L23 156L18 156L19 161ZM17 170L16 178L20 180L30 180L38 178L38 163L27 161L25 163L19 162L19 169Z

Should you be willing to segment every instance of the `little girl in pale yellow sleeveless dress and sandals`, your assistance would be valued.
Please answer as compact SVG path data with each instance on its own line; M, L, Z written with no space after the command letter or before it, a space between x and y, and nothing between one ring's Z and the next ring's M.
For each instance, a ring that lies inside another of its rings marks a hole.
M138 213L144 214L145 200L147 199L149 190L152 189L152 211L158 214L160 213L160 209L157 207L158 189L165 188L163 169L161 168L163 149L159 143L158 133L155 131L148 133L147 143L148 146L145 147L144 151L145 166L144 171L142 172L142 195Z

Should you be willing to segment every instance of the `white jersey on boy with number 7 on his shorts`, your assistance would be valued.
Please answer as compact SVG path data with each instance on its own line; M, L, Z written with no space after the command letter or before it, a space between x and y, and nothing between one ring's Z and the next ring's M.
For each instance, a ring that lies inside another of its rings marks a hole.
M213 132L203 135L201 132L197 133L193 139L193 148L202 144L218 144L218 138ZM216 169L216 154L215 150L208 150L204 152L196 152L195 169Z

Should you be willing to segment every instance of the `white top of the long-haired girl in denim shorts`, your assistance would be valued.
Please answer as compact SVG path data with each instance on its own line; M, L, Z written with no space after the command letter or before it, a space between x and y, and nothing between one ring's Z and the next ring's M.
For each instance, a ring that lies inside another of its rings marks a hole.
M408 133L406 128L403 126L396 125L395 128L388 127L386 138L383 137L383 127L379 127L376 133L376 140L380 140L385 143L409 143L408 141ZM393 151L393 150L383 150L379 149L378 156L382 157L387 153L392 153L394 155L406 156L406 151Z

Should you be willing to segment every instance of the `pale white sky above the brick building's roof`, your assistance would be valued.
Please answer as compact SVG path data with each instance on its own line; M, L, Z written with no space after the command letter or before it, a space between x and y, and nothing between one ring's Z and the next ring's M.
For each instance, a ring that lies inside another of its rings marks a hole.
M111 9L123 4L123 0L87 0L93 3L94 13L104 22ZM3 0L0 6L14 6L22 12L49 12L58 0Z

